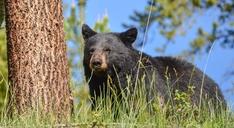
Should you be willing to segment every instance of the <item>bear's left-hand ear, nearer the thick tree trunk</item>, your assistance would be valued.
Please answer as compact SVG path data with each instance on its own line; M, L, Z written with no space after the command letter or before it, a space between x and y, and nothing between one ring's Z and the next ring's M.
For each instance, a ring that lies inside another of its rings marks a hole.
M82 25L82 36L85 41L96 34L97 32L93 31L87 24Z

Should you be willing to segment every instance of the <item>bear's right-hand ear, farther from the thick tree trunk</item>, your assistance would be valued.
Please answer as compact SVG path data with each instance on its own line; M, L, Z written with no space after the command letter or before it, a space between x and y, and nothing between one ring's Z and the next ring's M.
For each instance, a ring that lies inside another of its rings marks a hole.
M127 47L132 46L132 43L136 40L136 37L137 37L136 28L130 28L127 31L120 33L120 39Z

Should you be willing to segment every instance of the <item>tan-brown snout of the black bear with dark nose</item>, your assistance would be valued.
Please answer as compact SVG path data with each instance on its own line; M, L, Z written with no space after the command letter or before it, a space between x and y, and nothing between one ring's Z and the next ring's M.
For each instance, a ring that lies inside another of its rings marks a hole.
M90 69L94 72L104 71L107 69L106 57L104 54L93 54L90 59Z

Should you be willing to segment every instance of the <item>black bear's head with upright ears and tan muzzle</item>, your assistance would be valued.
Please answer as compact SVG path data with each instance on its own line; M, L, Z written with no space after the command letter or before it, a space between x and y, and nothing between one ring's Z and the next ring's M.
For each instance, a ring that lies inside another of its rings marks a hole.
M137 29L130 28L122 33L97 33L83 24L85 41L84 65L95 74L113 75L131 61L132 43L137 37Z

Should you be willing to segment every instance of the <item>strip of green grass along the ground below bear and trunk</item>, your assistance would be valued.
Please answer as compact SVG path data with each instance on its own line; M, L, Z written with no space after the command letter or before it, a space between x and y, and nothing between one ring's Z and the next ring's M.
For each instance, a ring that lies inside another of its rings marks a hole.
M139 81L141 84L144 82ZM115 89L108 93L115 94ZM124 93L125 92L125 93ZM129 95L131 93L132 95ZM97 109L92 111L89 103L75 105L70 121L59 123L57 117L42 117L35 111L23 115L13 115L12 119L2 114L3 127L116 127L116 128L232 128L234 126L233 112L230 109L221 110L220 113L207 106L202 113L188 102L190 95L176 93L174 100L181 100L181 104L160 105L159 97L155 103L148 104L144 88L136 88L134 93L128 89L123 90L123 98L117 99L107 96L105 100L98 100ZM121 101L121 102L120 102ZM171 114L168 114L168 112Z

